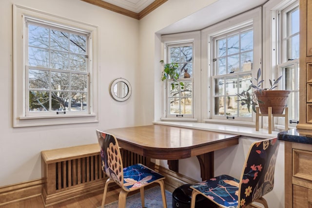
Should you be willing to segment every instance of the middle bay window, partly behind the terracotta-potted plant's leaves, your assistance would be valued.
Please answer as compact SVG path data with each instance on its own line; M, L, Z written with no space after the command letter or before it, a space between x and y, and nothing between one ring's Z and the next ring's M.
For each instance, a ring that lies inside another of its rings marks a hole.
M261 12L255 8L201 31L203 122L254 126L254 113L236 94L262 67Z

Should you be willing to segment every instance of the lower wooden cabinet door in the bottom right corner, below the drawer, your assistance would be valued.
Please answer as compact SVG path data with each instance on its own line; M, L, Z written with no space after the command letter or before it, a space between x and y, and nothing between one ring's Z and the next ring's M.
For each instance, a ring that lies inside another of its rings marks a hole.
M293 185L293 208L312 208L312 189Z

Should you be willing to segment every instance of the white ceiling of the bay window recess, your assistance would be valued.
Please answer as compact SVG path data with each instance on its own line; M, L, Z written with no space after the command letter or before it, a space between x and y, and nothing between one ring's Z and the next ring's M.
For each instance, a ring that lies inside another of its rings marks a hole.
M180 19L158 31L159 34L173 34L206 28L221 20L253 9L268 0L217 0L211 5Z

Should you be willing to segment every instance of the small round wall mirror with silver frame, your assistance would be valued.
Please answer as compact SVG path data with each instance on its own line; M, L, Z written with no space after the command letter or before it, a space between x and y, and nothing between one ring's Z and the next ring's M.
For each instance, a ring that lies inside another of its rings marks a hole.
M117 78L110 85L110 94L117 101L125 101L131 95L131 85L124 78Z

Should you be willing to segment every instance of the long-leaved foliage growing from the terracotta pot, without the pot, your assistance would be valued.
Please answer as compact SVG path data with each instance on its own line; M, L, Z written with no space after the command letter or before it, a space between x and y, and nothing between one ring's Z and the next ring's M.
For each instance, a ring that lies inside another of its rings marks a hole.
M278 77L274 82L270 81L270 88L261 88L261 85L263 83L263 79L261 79L261 69L258 69L257 77L254 78L256 84L253 83L253 79L250 80L251 84L249 85L247 90L244 90L243 92L236 94L239 99L238 101L241 101L241 105L247 105L248 111L250 113L250 107L252 107L252 110L254 113L256 113L255 107L258 105L258 103L264 103L261 100L259 100L256 96L256 92L262 93L262 91L266 90L273 90L277 87L277 83L281 80L282 76ZM252 90L252 92L249 92Z

